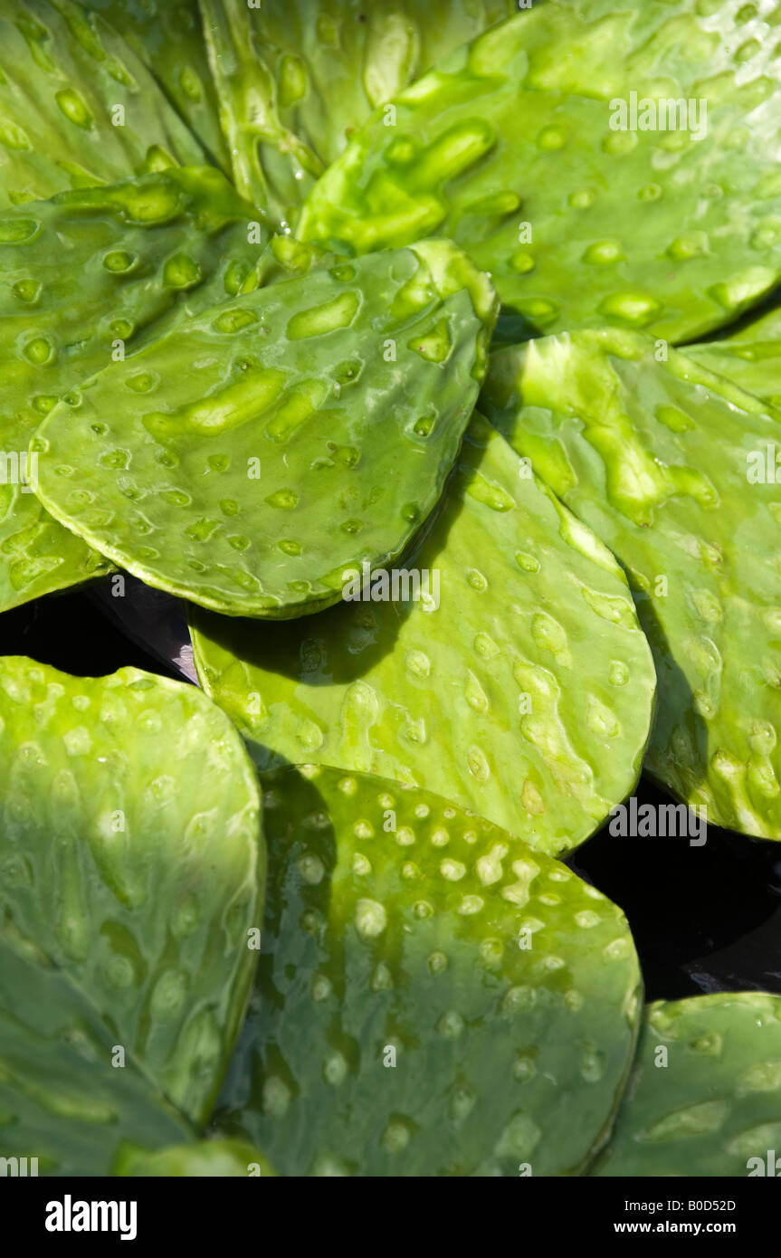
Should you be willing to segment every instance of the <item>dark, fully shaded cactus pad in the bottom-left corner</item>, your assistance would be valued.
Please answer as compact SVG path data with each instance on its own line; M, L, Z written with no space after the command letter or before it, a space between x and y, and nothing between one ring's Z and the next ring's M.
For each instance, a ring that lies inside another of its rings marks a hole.
M122 1068L112 1064L118 1060L116 1028L40 951L45 938L15 936L8 916L9 859L4 852L0 1157L38 1159L28 1161L28 1175L108 1175L123 1141L155 1150L194 1138L190 1123L131 1053ZM15 862L19 871L24 860L16 855Z

